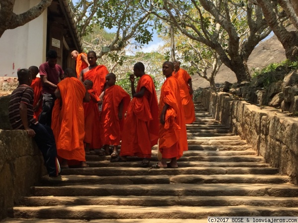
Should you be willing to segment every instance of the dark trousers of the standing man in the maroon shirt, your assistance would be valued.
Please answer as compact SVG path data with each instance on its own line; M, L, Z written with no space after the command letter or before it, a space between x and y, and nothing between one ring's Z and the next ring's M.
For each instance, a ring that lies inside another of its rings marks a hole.
M51 127L52 111L55 104L56 97L54 94L43 93L42 111L39 115L38 122L43 125Z

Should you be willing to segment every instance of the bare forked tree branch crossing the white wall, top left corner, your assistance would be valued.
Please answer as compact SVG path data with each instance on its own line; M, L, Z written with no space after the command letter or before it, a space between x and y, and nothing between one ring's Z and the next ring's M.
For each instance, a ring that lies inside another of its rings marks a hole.
M0 0L0 37L6 29L14 29L37 18L51 3L52 0L40 0L29 10L17 15L13 12L15 0Z

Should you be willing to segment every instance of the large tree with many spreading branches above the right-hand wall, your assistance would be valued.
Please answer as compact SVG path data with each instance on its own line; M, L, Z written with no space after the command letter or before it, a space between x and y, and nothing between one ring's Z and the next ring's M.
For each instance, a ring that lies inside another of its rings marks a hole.
M144 11L151 5L156 22L173 24L183 35L214 50L238 82L250 79L248 57L271 32L259 5L247 0L144 0L141 4ZM277 16L287 19L282 11Z

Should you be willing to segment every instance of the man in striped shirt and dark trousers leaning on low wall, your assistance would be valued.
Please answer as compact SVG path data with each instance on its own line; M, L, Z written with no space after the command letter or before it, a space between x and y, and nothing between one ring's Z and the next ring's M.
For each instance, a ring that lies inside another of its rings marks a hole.
M41 150L49 174L49 181L67 181L61 177L60 166L56 158L57 150L52 129L33 118L32 75L28 69L17 72L18 87L11 93L8 107L9 122L13 129L25 130L28 137L33 137Z

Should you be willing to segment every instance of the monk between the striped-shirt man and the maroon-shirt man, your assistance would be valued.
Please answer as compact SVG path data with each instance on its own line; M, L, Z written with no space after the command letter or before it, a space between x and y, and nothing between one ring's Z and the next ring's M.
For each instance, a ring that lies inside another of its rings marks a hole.
M39 69L36 66L31 66L29 68L32 74L32 83L30 87L33 88L34 97L33 97L33 118L38 120L39 114L42 111L42 83L40 77L36 77L36 75L39 73Z

